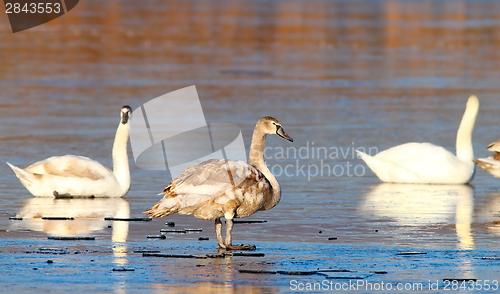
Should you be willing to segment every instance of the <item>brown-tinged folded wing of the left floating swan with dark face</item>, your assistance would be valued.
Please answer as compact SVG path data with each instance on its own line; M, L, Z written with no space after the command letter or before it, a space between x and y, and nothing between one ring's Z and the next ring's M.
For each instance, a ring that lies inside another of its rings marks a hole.
M26 171L41 175L100 180L111 172L99 162L83 156L54 156L34 163Z

